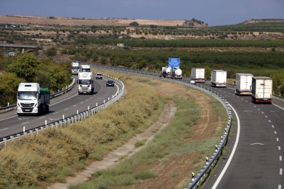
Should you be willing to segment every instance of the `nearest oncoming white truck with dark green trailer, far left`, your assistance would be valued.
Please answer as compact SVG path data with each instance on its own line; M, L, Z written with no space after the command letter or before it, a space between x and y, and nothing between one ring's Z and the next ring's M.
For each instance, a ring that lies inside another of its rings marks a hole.
M17 92L17 114L44 114L49 112L50 93L37 83L21 83Z

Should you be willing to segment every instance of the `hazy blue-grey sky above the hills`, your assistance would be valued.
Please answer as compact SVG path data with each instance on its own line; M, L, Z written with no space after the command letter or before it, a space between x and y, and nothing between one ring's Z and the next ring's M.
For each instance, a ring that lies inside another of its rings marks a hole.
M0 0L0 15L190 20L213 25L284 18L284 0Z

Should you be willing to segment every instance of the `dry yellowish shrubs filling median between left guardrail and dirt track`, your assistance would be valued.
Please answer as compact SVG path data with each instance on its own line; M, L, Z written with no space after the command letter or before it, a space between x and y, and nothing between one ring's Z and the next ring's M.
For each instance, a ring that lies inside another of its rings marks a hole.
M127 75L114 76L126 84L126 95L115 105L80 123L45 129L1 149L0 188L41 188L50 182L64 181L82 170L86 160L102 160L108 151L156 121L163 99L154 86Z

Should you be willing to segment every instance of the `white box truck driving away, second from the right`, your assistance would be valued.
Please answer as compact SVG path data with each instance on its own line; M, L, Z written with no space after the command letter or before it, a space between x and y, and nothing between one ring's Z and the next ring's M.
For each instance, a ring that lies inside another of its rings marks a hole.
M235 82L236 95L252 95L252 77L250 73L237 73Z

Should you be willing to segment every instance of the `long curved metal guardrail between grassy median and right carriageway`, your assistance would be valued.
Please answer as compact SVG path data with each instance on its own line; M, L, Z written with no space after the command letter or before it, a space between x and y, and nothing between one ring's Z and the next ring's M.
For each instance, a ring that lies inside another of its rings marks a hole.
M171 81L171 82L175 82L175 83L189 86L192 88L196 88L198 90L201 90L202 92L205 92L208 95L211 95L212 97L214 97L215 99L217 99L218 101L222 103L224 108L226 108L226 112L228 114L228 122L225 128L224 134L221 136L220 143L215 146L215 152L213 153L213 155L210 158L206 157L205 165L203 166L203 168L201 168L200 173L198 173L197 177L195 177L194 174L192 175L193 176L192 181L191 183L189 183L189 186L186 188L198 188L199 186L201 186L204 180L208 177L210 170L215 166L215 164L217 164L217 160L219 160L220 155L222 155L224 146L226 145L226 142L228 141L228 134L230 132L232 118L231 118L230 107L226 99L224 99L224 97L222 97L222 95L220 95L218 92L216 91L213 92L212 88L209 88L202 84L200 86L189 84L189 80L187 79L181 79L181 80L167 79L167 78L160 77L160 75L157 73L150 73L150 72L145 72L145 71L135 71L135 70L125 69L125 68L114 68L114 67L102 66L102 65L94 65L94 66L97 68L110 70L110 71L117 71L121 73L132 74L132 75L142 75L142 76L147 76L147 77L154 77L156 79Z

